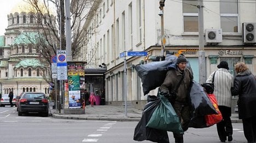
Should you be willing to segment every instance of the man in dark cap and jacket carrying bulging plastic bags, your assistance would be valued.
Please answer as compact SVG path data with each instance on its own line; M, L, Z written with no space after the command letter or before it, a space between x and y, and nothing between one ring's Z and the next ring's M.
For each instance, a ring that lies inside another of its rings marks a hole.
M193 81L193 73L187 67L187 58L179 55L175 64L170 66L164 83L160 86L160 93L168 98L185 132L190 122L189 92ZM183 134L173 133L176 143L183 143Z

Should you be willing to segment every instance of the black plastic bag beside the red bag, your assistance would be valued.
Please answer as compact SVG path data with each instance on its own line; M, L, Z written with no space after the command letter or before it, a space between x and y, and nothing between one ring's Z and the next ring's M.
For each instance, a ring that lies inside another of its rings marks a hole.
M190 100L191 100L191 111L192 118L189 123L189 127L193 128L205 128L205 115L218 114L218 111L213 107L210 99L206 95L206 92L203 91L202 86L193 81L193 85L190 91Z

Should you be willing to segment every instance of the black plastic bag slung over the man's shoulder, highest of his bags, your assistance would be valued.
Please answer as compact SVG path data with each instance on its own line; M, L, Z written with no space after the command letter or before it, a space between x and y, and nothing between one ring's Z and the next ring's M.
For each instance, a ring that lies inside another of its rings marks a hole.
M144 95L147 95L150 90L161 86L165 80L167 66L171 63L172 61L164 60L135 66L135 70L141 78Z

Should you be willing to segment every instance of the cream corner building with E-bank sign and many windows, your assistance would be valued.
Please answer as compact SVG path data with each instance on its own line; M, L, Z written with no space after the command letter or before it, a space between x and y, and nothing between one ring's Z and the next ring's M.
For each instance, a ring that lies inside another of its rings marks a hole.
M89 42L81 52L85 52L85 61L91 60L88 67L106 64L106 104L123 104L127 90L127 101L137 108L144 107L147 95L143 95L141 79L132 65L147 64L153 62L154 57L161 57L162 39L165 39L165 54L166 51L183 53L190 61L194 79L199 82L199 8L203 9L206 67L202 68L206 78L217 70L221 60L228 61L234 76L234 65L238 61L245 62L256 74L255 2L217 0L198 5L197 1L165 1L164 13L161 13L159 1L95 1L93 7L97 12L91 11L92 16L83 29L88 33ZM163 23L159 14L164 14ZM124 57L125 51L146 51L148 55ZM148 95L156 95L156 90Z

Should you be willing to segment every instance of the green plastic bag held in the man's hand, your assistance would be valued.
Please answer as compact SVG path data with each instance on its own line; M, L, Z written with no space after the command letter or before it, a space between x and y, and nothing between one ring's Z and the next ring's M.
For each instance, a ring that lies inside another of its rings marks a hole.
M164 96L160 96L160 99L161 102L159 102L158 107L156 107L148 121L147 127L184 134L181 121L179 121L179 117L174 111L172 104Z

